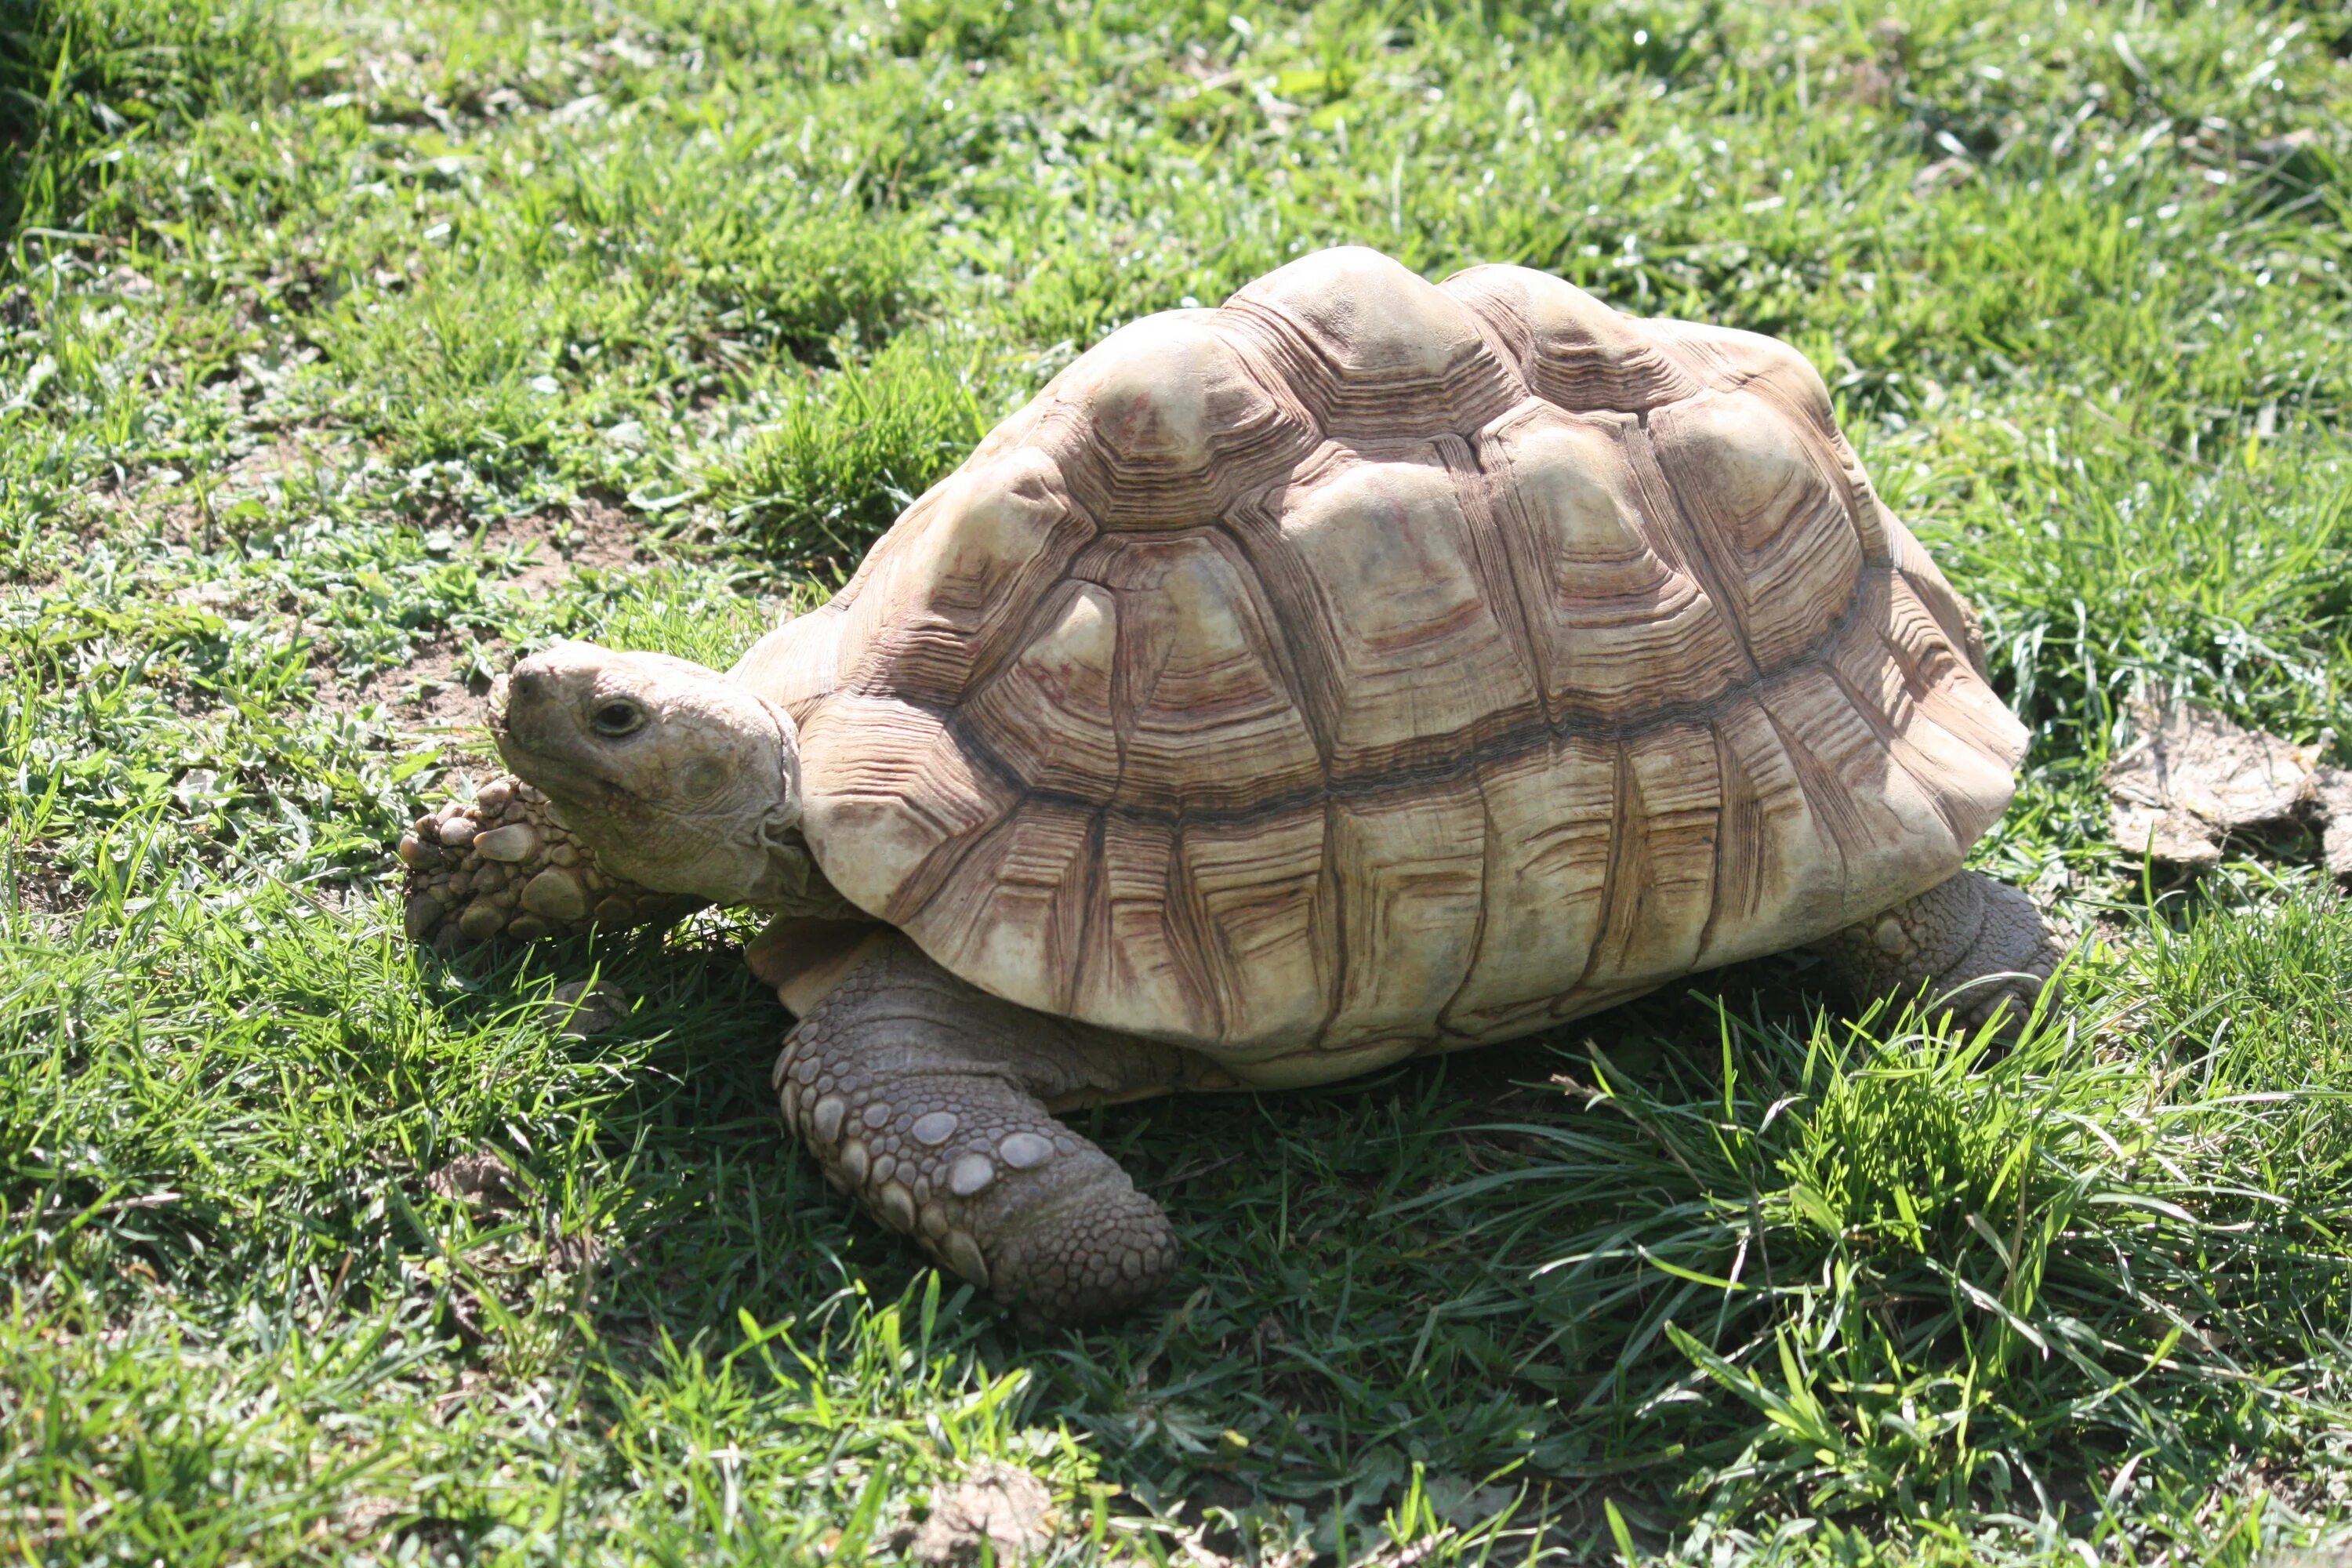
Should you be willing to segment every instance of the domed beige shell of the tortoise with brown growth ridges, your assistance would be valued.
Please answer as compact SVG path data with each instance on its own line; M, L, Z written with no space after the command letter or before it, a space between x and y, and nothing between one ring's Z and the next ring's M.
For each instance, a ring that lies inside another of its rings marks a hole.
M833 884L1258 1084L1950 877L2025 733L1764 336L1367 249L1105 339L736 668Z

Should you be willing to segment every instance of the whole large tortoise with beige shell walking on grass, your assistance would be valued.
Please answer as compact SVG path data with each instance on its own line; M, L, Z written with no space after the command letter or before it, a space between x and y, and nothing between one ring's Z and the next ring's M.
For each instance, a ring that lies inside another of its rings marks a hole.
M409 933L750 905L826 1175L1047 1321L1167 1215L1056 1119L1322 1084L1792 947L2034 1006L2025 729L1828 388L1557 277L1303 256L1075 360L727 672L567 642Z

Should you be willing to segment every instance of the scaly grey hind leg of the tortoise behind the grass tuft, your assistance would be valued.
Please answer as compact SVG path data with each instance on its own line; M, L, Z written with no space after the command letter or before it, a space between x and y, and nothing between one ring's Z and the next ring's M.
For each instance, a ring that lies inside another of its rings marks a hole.
M1863 1001L1947 997L1964 1027L2006 1004L2009 1027L2065 957L2065 936L2025 893L1983 872L1959 872L1917 898L1816 943L1832 973Z

